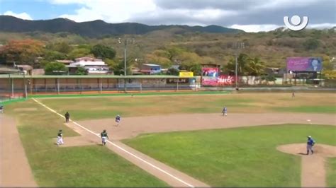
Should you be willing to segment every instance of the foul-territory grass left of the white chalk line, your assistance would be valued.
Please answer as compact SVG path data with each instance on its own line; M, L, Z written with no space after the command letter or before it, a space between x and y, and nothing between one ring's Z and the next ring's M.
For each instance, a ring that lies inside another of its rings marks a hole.
M22 107L37 111L14 111ZM17 119L21 142L39 186L167 186L103 146L55 146L52 139L59 129L66 137L78 134L33 100L12 103L6 106L6 113Z

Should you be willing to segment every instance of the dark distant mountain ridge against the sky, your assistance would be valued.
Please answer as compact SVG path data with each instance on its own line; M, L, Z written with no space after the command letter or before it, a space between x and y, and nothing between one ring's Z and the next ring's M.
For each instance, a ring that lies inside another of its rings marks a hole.
M13 16L0 16L0 32L26 33L43 31L46 33L74 33L85 37L102 35L142 35L155 30L180 28L184 32L201 33L242 33L242 30L223 28L218 25L145 25L141 23L106 23L103 20L77 23L65 18L52 20L22 20Z

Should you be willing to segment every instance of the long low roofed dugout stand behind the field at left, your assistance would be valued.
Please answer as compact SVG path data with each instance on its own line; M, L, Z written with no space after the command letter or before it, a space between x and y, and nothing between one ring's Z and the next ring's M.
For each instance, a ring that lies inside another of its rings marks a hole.
M179 76L23 76L0 75L0 95L193 90L196 78ZM2 93L2 94L1 94Z

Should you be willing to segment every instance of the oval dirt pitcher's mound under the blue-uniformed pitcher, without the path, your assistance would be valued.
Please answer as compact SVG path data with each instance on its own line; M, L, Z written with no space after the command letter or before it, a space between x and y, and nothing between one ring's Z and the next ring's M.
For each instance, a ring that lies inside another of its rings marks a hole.
M307 144L306 143L293 143L293 144L278 146L276 149L284 153L289 153L293 155L306 155ZM313 155L321 155L327 158L336 157L336 146L316 143L315 146L313 146L313 149L314 149Z

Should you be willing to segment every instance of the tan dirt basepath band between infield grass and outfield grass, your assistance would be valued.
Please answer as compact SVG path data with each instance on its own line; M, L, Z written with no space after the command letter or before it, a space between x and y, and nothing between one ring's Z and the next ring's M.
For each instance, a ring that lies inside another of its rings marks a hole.
M309 120L309 121L308 121ZM84 127L94 131L106 129L114 140L129 139L138 134L191 131L201 129L223 129L269 124L330 124L336 125L333 114L262 113L262 114L169 114L150 117L126 117L115 127L114 119L93 119L79 121Z

